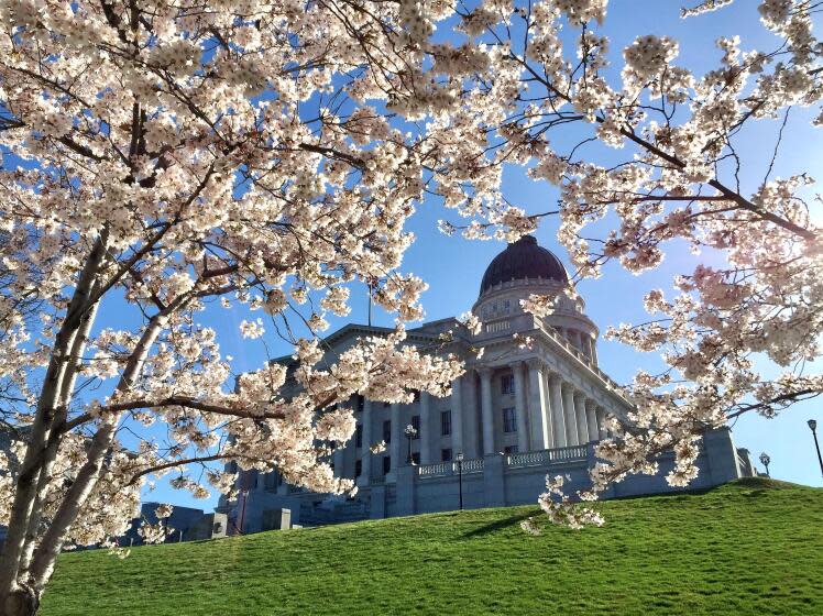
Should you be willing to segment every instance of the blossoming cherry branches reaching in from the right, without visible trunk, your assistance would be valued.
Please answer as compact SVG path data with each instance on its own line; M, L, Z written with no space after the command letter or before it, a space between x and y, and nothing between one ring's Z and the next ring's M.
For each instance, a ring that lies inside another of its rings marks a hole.
M732 3L695 2L682 18L700 28ZM650 320L607 332L660 353L667 369L641 371L627 387L636 410L623 422L612 418L615 438L597 447L602 463L592 488L577 495L583 499L629 473L658 472L657 457L668 450L676 454L669 483L687 485L706 430L745 413L772 417L823 391L820 370L809 365L820 356L823 326L821 217L811 206L819 208L820 197L802 168L773 176L790 110L813 110L794 130L823 124L823 44L812 29L823 3L740 3L735 8L757 11L773 47L745 50L729 32L702 75L677 63L679 43L670 36L638 33L612 53L599 33L606 8L606 0L490 0L458 9L467 40L486 45L489 66L465 80L471 120L461 118L467 134L486 139L474 156L460 147L456 165L478 161L489 178L489 168L527 165L560 198L550 212L512 207L483 220L484 200L503 197L478 191L459 205L461 222L442 223L447 233L500 238L557 216L577 279L599 276L608 262L633 273L655 268L674 241L711 257L682 272L673 294L649 290ZM775 125L776 145L745 152L750 131L762 140ZM550 139L563 143L569 134L571 146L552 146ZM456 182L453 170L439 169L438 179ZM552 301L531 297L524 309L545 315ZM562 480L547 477L540 503L549 516L577 527L602 522L571 505Z

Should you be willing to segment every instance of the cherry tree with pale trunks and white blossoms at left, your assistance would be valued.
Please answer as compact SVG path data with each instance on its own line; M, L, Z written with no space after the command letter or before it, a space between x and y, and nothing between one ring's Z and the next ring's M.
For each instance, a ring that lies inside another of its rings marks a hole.
M398 272L432 146L365 103L414 91L415 14L0 4L0 612L36 612L65 546L121 535L149 476L230 493L234 477L213 469L233 461L352 493L328 463L353 433L351 396L448 394L460 363L404 343L426 285ZM355 280L397 329L321 362L326 316L348 314ZM296 370L271 363L235 385L218 332L197 320L212 304L260 310ZM96 328L107 309L132 309L135 327ZM287 378L300 394L282 394Z

